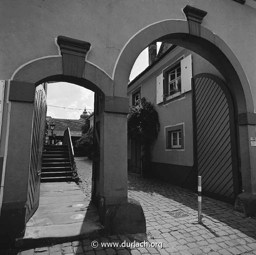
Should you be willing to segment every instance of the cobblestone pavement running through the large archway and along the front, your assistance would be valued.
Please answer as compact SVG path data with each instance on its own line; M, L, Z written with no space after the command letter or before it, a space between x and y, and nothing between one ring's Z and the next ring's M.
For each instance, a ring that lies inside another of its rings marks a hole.
M80 187L90 195L91 162L76 158ZM81 169L82 168L82 169ZM85 172L84 172L85 171ZM197 195L159 180L142 179L128 174L128 196L138 200L144 210L148 243L163 243L163 248L98 248L91 241L62 243L51 247L20 252L20 255L239 255L256 254L256 219L243 217L233 206L202 197L203 224L197 223ZM131 239L125 235L99 238L99 242L119 242Z

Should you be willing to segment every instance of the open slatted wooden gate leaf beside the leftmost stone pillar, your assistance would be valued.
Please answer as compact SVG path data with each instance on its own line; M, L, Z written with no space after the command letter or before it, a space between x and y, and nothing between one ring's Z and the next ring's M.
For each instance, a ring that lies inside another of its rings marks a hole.
M39 205L46 112L47 104L44 88L39 85L35 93L26 221L30 219Z

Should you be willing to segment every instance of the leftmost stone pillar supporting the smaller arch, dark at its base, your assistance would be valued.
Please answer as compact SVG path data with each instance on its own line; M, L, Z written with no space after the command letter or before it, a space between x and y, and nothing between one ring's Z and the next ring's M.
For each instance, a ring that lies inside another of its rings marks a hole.
M35 85L11 81L9 90L9 139L6 151L3 204L0 215L2 245L13 245L26 229L29 164Z

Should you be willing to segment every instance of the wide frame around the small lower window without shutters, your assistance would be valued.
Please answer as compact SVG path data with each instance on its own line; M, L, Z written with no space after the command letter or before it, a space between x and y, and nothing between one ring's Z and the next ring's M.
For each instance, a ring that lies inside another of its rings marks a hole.
M177 143L178 145L173 145L173 133L177 132ZM180 135L179 135L180 132ZM166 151L185 151L184 146L184 122L177 125L170 125L165 127L165 150ZM170 137L171 135L171 137ZM179 141L180 139L180 141Z

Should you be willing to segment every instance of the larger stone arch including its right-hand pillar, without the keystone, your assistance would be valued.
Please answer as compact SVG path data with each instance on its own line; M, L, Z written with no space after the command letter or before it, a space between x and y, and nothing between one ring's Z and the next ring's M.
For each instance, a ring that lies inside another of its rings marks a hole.
M255 136L256 116L253 96L247 76L236 55L218 35L199 25L192 33L189 21L162 20L138 31L122 48L113 70L114 95L125 95L128 78L140 52L154 41L167 41L190 49L201 55L226 79L235 105L238 154L241 159L243 191L256 194L256 150L250 146L249 137Z

